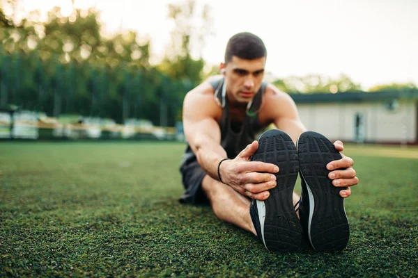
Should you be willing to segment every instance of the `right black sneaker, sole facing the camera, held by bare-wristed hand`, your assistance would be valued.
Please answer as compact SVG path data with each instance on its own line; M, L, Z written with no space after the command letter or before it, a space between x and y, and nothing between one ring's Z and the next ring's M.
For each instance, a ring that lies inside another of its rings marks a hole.
M327 164L341 154L325 136L307 131L297 140L302 194L299 217L304 236L316 251L343 250L350 238L344 199L328 178Z

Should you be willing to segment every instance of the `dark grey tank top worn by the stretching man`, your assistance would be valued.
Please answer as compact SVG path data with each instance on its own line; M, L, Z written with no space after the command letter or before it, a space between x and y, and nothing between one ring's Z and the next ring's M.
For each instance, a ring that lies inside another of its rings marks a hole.
M239 130L233 130L229 117L229 101L226 97L226 85L224 76L214 76L208 79L208 83L215 90L215 99L219 106L222 107L222 116L219 120L219 128L221 129L221 146L225 149L228 158L235 158L242 149L255 140L256 133L265 128L258 120L258 111L263 103L263 95L267 83L263 82L252 101L247 106L247 113L242 121ZM192 148L187 144L185 154L183 154L182 165L184 163L196 160Z

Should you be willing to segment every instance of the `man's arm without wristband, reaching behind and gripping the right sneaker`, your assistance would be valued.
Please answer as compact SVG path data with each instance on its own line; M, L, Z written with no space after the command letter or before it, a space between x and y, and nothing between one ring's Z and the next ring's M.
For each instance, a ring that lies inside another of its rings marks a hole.
M270 89L274 92L270 93L270 101L268 101L268 105L266 105L268 107L266 109L272 111L272 122L274 122L278 129L288 133L293 142L296 142L300 134L307 131L307 129L300 121L295 102L288 94L279 92L276 88L270 87ZM343 142L340 140L335 141L334 146L339 152L342 152L344 149ZM359 179L355 177L356 173L353 169L353 159L344 154L341 154L341 156L343 156L342 159L328 163L327 169L333 170L328 177L333 180L332 183L334 186L348 187L346 190L340 191L341 197L348 197L351 194L349 186L355 186L359 182Z

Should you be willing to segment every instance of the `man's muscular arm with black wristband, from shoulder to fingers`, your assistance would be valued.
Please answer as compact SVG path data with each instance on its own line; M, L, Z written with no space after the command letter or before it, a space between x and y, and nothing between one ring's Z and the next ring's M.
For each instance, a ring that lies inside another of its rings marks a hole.
M208 84L203 83L187 93L183 102L185 137L199 165L218 181L219 161L227 158L220 145L221 131L217 124L220 115L222 108L216 104ZM279 168L271 163L249 161L257 148L258 142L252 142L237 157L222 162L219 171L222 182L238 193L263 200L268 197L267 191L276 186L276 177L269 173L279 172Z

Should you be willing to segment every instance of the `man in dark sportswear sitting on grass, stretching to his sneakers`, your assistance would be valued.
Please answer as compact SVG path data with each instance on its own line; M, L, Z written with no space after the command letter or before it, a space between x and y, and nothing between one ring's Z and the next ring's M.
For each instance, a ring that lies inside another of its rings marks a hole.
M250 231L270 251L342 250L349 238L343 198L358 183L353 159L307 131L293 99L263 82L267 51L251 33L233 35L222 75L187 93L188 142L180 202L209 204L220 220ZM270 124L277 129L256 133ZM332 172L331 172L332 170ZM297 174L301 197L293 193Z

